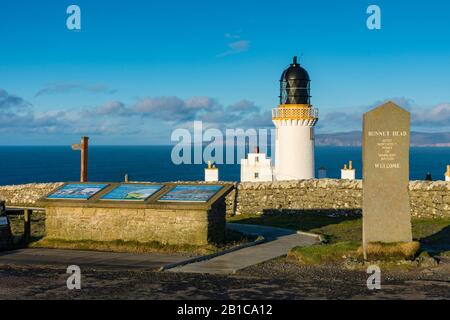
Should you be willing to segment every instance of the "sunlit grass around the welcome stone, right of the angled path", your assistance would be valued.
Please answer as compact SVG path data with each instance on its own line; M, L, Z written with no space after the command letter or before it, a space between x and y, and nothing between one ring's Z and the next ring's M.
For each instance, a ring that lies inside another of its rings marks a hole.
M239 215L229 222L260 224L301 230L322 235L325 244L292 249L288 259L301 264L336 264L347 258L360 259L362 242L362 218L357 216L332 216L321 213L295 215ZM450 218L412 219L413 237L416 242L407 244L369 245L369 258L411 260L419 253L419 247L434 250L433 255L450 257ZM420 243L419 243L420 242Z

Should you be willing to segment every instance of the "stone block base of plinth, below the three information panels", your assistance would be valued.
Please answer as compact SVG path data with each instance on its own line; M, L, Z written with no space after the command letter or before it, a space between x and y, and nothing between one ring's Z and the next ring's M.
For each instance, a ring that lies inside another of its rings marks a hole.
M46 209L50 239L94 241L158 241L205 245L225 237L225 216L218 210L50 207Z

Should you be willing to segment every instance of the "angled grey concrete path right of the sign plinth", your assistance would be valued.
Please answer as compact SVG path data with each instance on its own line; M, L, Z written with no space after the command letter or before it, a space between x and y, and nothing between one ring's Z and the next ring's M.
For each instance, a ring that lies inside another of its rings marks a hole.
M297 234L293 230L228 223L227 228L246 234L262 235L267 242L233 251L210 260L196 262L167 270L168 272L230 274L240 269L285 255L297 246L319 243L314 236Z

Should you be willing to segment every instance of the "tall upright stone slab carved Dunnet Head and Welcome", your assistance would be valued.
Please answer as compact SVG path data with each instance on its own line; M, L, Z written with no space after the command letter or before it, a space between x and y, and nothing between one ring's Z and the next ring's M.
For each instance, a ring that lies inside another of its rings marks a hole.
M388 102L363 119L363 244L412 241L410 113Z

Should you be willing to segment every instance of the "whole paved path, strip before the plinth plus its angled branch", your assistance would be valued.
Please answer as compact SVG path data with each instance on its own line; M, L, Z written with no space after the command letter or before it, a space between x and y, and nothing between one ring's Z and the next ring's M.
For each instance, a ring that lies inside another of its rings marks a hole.
M230 274L237 270L285 255L296 246L306 246L318 242L312 236L299 235L293 230L245 225L227 224L227 228L246 234L262 235L267 242L230 252L210 260L187 264L169 269L170 272ZM69 266L107 269L159 268L189 259L180 254L134 254L61 249L20 249L0 253L0 265L21 266Z

